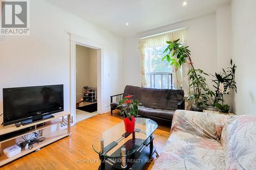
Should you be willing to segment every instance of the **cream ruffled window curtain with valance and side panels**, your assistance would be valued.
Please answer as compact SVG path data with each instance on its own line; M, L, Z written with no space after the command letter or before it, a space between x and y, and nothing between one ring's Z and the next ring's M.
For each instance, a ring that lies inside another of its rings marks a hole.
M187 43L187 29L169 32L166 34L141 39L139 41L139 49L140 49L140 64L141 64L141 86L146 86L146 72L145 72L145 49L151 48L151 47L160 47L166 45L166 41L174 41L180 39L180 43L182 43L184 46ZM185 65L186 67L186 65ZM185 69L184 66L182 68L176 69L175 66L173 66L173 80L174 80L174 86L176 89L183 88L183 80L182 77L184 76L183 70ZM183 75L183 76L182 76ZM188 87L187 87L188 88Z

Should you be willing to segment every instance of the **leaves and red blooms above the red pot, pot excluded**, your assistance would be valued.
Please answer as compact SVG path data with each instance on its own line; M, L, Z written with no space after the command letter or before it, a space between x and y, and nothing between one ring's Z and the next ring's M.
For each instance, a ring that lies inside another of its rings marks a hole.
M121 115L126 115L130 120L132 120L132 116L138 117L139 105L140 103L138 101L123 97L117 107L121 107Z

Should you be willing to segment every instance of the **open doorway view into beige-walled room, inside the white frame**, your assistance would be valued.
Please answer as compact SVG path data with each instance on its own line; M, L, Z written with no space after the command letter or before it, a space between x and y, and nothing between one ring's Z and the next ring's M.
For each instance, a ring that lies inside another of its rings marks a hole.
M97 50L76 44L76 122L97 114Z

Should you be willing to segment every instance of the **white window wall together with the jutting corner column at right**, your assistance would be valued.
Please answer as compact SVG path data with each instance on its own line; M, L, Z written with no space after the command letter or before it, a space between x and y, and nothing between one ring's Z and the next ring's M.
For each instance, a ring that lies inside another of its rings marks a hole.
M215 74L227 68L231 59L231 8L230 4L221 6L216 13L185 20L173 25L157 28L123 38L123 87L140 86L140 37L154 35L178 28L188 27L187 45L196 68L209 74ZM212 77L207 78L212 87ZM187 95L187 94L185 94ZM233 94L225 96L225 101L232 108Z

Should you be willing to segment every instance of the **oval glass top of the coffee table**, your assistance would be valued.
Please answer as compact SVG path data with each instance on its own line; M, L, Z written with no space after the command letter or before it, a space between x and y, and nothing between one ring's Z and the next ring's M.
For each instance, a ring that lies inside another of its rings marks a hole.
M129 156L142 148L143 142L157 127L157 123L151 119L136 118L135 132L125 133L124 122L121 122L97 136L93 141L93 150L105 157L120 158L121 148L125 148L124 156Z

